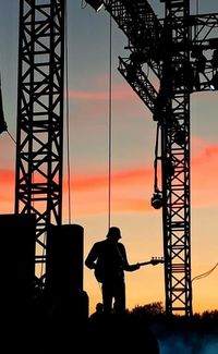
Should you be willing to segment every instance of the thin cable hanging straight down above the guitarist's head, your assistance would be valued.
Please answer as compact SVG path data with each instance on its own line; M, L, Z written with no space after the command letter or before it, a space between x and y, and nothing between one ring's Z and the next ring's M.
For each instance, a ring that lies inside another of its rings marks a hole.
M109 20L109 105L108 105L108 228L111 222L111 142L112 142L112 16Z

